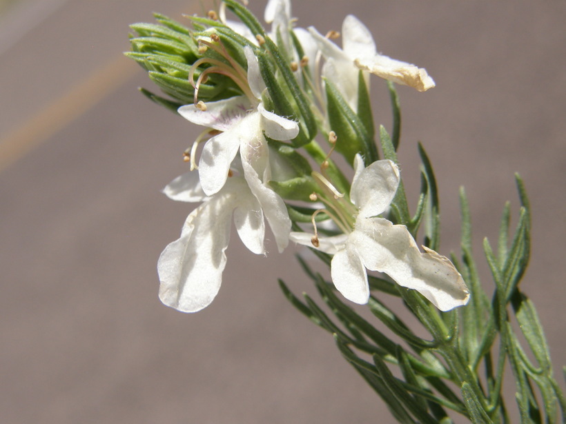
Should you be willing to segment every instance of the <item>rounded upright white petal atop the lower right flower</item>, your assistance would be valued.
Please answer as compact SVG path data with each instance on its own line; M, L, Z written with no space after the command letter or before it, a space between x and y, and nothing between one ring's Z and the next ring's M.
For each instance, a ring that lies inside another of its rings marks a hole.
M399 186L399 168L387 159L375 161L364 168L360 154L354 159L350 198L360 208L360 216L369 218L381 214L393 201Z

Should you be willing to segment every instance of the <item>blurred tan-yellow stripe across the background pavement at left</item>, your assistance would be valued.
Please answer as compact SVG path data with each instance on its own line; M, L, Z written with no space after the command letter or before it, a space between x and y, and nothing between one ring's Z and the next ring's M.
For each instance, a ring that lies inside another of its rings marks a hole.
M141 70L120 56L101 66L0 140L0 172L77 119Z

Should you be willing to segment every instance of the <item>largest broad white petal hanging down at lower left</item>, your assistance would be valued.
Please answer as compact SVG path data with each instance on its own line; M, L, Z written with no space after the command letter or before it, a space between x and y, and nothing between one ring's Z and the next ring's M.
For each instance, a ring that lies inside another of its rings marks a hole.
M197 312L222 283L230 239L229 196L215 196L189 214L182 235L159 256L159 299L181 312Z

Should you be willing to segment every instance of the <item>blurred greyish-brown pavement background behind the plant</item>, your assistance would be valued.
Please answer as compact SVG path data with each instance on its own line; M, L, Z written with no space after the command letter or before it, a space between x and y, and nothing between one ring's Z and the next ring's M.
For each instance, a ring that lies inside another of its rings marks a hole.
M264 1L250 0L263 17ZM565 363L566 3L295 1L300 26L340 30L355 14L378 49L427 68L437 87L400 87L400 162L412 205L417 141L435 166L440 252L458 249L465 185L481 241L530 194L523 290L559 370ZM0 417L3 423L392 422L333 339L277 287L315 290L283 255L237 237L213 304L182 314L157 299L156 263L191 205L159 192L185 172L199 129L146 100L128 25L183 20L191 0L0 1ZM377 123L390 126L383 81ZM316 298L316 296L315 296ZM557 378L560 379L559 374ZM512 390L512 387L510 387ZM511 403L513 401L511 400Z

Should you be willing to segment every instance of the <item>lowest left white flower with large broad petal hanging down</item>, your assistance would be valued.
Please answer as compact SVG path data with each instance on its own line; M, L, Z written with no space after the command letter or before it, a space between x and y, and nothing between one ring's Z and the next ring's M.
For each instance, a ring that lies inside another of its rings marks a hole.
M167 245L157 263L159 299L176 310L202 310L218 293L232 215L240 239L255 254L265 253L264 217L280 252L289 242L291 220L285 204L253 168L248 168L246 181L233 176L213 196L204 194L197 172L177 177L164 193L177 201L203 201L188 215L180 238Z

